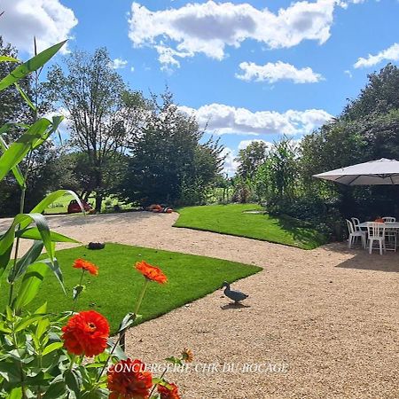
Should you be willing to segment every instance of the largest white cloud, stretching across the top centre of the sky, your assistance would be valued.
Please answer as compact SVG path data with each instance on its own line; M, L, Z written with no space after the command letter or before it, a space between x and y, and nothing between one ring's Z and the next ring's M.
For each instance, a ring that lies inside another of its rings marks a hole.
M179 66L178 59L203 53L223 59L226 46L238 48L247 39L269 48L292 47L303 40L325 43L330 37L337 0L293 3L277 13L251 4L185 4L180 8L152 12L133 3L129 38L136 47L155 48L160 62Z

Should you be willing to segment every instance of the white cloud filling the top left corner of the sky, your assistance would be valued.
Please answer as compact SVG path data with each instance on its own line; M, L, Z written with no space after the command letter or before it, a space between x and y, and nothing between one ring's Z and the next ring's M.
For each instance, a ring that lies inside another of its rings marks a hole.
M74 12L59 0L3 0L0 9L1 35L19 51L34 52L34 36L38 51L70 38L78 23ZM66 52L66 46L61 49Z

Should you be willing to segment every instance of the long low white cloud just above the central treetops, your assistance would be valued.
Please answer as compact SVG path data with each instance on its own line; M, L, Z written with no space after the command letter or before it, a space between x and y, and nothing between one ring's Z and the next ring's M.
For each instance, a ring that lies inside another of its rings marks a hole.
M251 112L246 108L236 108L223 104L201 106L198 110L180 106L185 113L194 114L202 128L216 134L286 134L299 135L317 129L332 118L322 109L306 111L288 110Z

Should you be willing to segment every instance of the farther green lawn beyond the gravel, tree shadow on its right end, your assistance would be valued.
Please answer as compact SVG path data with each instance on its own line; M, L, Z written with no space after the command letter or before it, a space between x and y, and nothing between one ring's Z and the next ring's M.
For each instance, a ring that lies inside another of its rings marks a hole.
M180 216L175 227L262 239L302 249L313 249L325 243L325 237L306 223L291 217L246 213L251 210L262 211L262 207L256 204L183 207L178 209Z

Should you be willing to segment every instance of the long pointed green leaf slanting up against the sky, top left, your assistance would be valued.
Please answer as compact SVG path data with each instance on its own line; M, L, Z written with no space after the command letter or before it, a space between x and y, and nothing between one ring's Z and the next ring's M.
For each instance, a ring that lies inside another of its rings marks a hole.
M12 85L15 82L18 82L20 79L27 76L27 74L31 74L37 69L41 68L49 59L51 59L59 49L66 43L64 42L55 44L50 48L40 52L34 58L29 59L27 62L23 63L20 66L17 66L11 74L8 74L4 77L2 81L0 81L0 91L6 89L8 86Z

